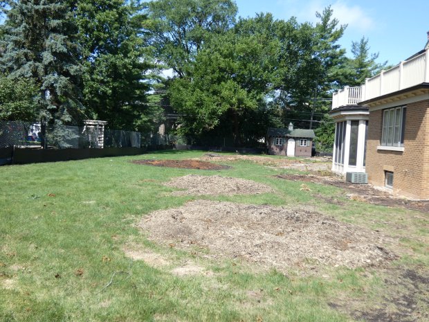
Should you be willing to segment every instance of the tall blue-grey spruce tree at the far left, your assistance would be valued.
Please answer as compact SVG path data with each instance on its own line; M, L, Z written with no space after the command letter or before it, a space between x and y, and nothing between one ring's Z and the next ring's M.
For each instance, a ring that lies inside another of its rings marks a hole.
M31 78L39 88L42 145L66 146L64 125L80 117L79 48L72 12L60 0L7 1L0 66L12 79ZM47 131L46 131L47 127ZM46 134L46 135L44 135Z

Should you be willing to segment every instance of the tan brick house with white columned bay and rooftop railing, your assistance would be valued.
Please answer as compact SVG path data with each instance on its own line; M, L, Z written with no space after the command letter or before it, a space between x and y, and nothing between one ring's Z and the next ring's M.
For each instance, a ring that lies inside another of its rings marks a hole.
M361 87L334 93L332 107L334 172L354 171L347 154L355 149L357 121L356 159L363 163L356 171L394 194L429 199L429 32L422 51Z

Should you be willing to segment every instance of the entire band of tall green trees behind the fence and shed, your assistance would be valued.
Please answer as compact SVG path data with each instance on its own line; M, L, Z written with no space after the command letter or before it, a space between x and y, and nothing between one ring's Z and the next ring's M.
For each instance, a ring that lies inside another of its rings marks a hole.
M233 0L1 5L0 116L37 117L47 127L96 118L112 129L154 132L168 111L179 117L177 133L231 136L236 145L290 122L322 120L318 133L331 132L324 116L332 92L385 66L365 37L347 57L338 44L347 26L331 7L311 24L237 17ZM169 79L161 75L167 69Z

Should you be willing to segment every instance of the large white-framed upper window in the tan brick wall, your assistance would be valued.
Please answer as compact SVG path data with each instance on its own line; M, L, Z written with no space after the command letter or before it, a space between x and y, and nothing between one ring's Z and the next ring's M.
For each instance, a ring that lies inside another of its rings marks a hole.
M393 107L383 110L383 132L381 145L403 146L403 134L405 132L405 106Z

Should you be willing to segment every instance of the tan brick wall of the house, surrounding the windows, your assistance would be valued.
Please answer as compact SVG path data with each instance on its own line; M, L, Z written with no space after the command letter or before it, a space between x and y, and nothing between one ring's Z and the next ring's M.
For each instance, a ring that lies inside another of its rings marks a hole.
M385 170L394 173L393 192L429 199L429 100L407 105L404 151L377 150L383 110L369 112L366 172L374 186L385 186Z

